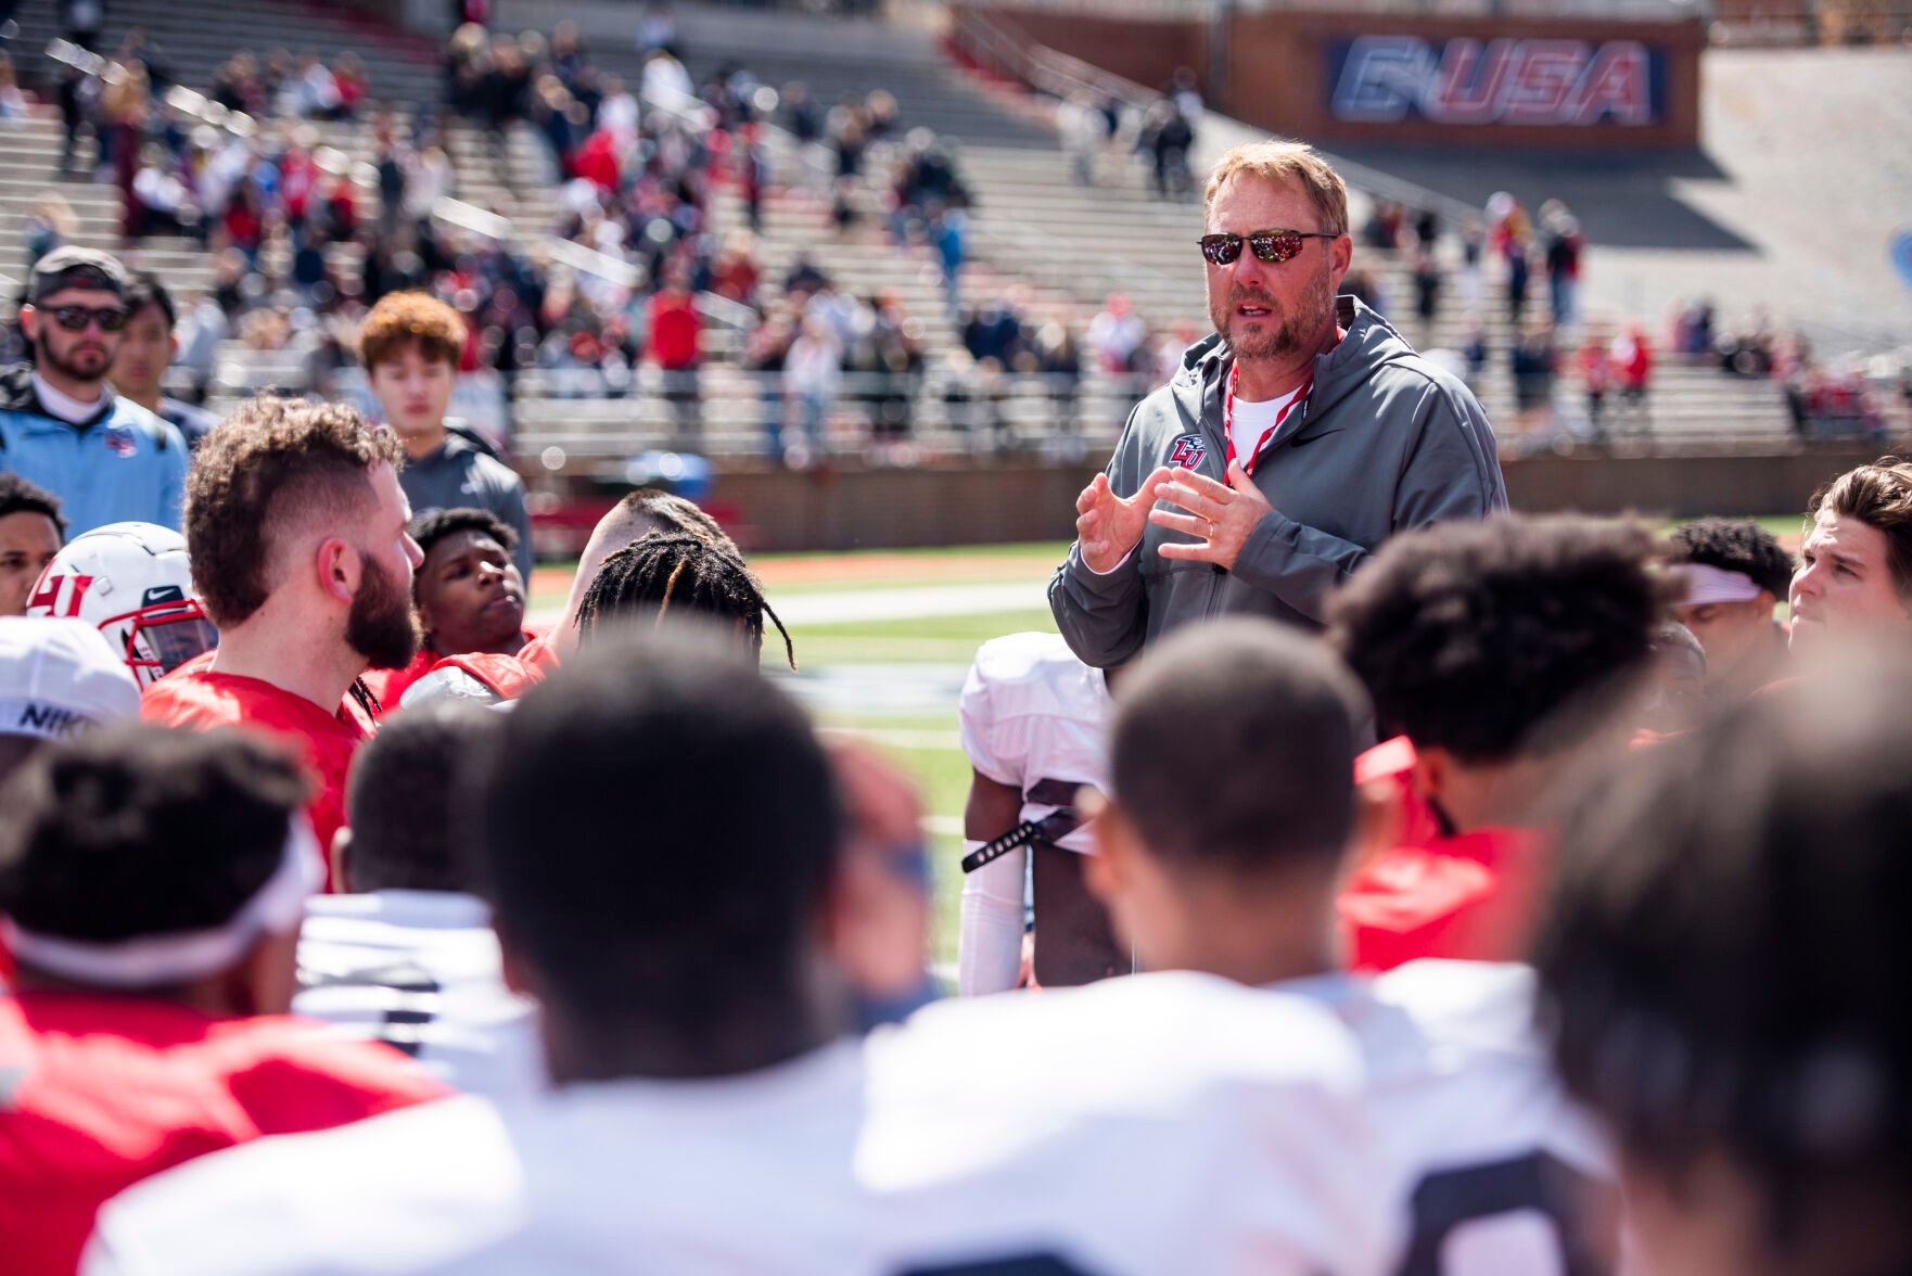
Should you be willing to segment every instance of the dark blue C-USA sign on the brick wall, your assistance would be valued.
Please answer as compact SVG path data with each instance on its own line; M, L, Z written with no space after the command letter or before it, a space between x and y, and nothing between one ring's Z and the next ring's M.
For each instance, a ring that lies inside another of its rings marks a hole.
M1333 40L1329 113L1350 122L1658 124L1665 52L1639 40Z

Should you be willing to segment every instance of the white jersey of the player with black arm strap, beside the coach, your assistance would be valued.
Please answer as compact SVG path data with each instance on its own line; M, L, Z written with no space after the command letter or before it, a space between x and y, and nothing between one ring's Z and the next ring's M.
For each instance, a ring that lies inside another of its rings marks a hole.
M975 652L958 700L962 750L969 765L1019 792L1038 781L1094 784L1109 792L1109 689L1101 670L1075 658L1055 633L1010 633ZM1023 803L1023 819L1054 811ZM1096 849L1092 828L1076 828L1055 846Z

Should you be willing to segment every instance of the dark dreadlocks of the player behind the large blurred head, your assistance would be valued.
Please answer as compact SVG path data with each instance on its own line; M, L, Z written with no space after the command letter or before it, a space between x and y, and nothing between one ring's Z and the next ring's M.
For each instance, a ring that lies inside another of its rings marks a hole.
M784 658L797 668L790 629L771 610L744 559L690 532L650 532L604 559L577 606L577 643L585 647L631 616L654 612L663 620L673 605L679 612L734 622L753 652L763 652L763 618L769 616L784 635Z

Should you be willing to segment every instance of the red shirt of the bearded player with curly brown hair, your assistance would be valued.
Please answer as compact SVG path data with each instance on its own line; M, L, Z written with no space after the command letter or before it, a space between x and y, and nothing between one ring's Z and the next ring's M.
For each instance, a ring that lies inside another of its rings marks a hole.
M379 723L359 704L346 696L327 714L323 708L283 687L214 673L212 652L187 660L178 670L145 689L140 717L163 727L256 727L298 746L300 758L319 782L319 794L306 807L312 834L331 861L333 834L346 823L346 771L352 754L373 737ZM327 869L327 890L333 890Z

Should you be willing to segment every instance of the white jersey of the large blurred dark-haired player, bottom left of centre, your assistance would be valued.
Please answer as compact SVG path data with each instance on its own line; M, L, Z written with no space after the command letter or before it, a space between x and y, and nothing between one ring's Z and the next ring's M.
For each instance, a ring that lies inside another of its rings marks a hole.
M876 1272L862 1056L459 1096L187 1161L101 1211L90 1276Z

